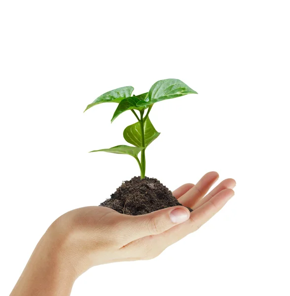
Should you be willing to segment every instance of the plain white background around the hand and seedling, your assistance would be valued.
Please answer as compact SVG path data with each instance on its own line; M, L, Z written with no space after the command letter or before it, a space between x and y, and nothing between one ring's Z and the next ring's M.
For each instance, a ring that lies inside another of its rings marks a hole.
M236 194L160 257L90 269L72 296L290 295L287 2L1 1L1 295L51 222L139 174L87 153L126 144L133 114L85 107L165 78L198 95L154 105L146 175L173 190L215 170Z

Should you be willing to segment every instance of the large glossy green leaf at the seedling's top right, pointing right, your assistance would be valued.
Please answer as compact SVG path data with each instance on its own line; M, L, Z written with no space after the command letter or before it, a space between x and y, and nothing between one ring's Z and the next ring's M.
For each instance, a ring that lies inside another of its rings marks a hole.
M197 94L197 92L179 79L159 80L149 90L149 101L146 103L140 102L138 106L149 106L163 100L173 99L187 94Z

